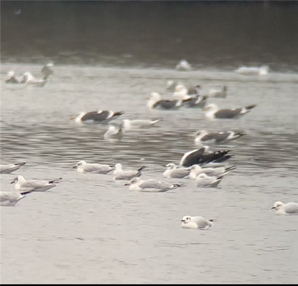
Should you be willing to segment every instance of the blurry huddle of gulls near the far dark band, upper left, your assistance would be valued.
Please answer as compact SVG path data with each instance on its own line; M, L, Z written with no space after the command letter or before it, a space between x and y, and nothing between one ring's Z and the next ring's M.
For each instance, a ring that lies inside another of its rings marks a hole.
M43 87L47 83L48 77L53 74L52 67L53 63L48 63L43 67L41 71L43 74L42 78L36 78L29 71L24 72L20 77L16 76L14 71L8 71L5 82L13 84L24 83L28 86Z

